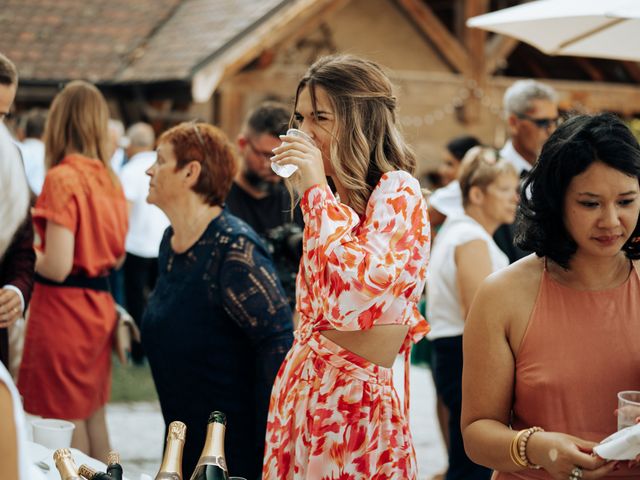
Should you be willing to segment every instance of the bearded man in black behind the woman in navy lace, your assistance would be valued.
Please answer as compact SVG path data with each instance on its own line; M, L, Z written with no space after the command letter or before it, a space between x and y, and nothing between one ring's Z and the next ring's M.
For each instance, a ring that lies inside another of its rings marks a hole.
M277 102L261 103L249 112L237 139L242 165L226 205L267 244L293 310L304 224L299 208L292 220L289 192L271 170L272 150L280 145L290 117L289 109Z

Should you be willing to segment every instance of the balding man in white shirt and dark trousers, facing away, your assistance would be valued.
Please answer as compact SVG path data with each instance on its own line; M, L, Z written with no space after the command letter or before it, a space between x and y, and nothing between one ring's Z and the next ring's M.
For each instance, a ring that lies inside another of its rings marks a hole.
M146 123L135 123L127 130L129 146L120 181L129 204L129 232L125 243L124 290L126 308L138 325L146 298L156 282L158 250L169 219L155 205L147 203L149 176L145 173L156 161L155 133ZM144 359L142 347L134 343L131 351L135 363Z

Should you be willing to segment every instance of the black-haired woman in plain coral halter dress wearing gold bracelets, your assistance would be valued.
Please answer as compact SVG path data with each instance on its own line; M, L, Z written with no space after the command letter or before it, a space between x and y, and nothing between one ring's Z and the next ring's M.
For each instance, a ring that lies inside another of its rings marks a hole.
M494 480L631 480L600 458L617 393L640 388L640 146L610 114L549 137L522 186L520 247L464 330L461 427ZM631 444L630 441L629 444Z

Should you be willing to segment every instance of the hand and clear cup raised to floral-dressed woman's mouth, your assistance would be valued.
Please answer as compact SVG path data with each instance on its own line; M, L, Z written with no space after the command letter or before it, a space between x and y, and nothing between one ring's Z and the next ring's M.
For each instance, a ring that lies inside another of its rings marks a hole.
M290 128L280 139L282 144L273 149L274 156L271 157L273 171L284 178L297 173L293 185L301 194L314 185L326 185L322 152L311 137Z

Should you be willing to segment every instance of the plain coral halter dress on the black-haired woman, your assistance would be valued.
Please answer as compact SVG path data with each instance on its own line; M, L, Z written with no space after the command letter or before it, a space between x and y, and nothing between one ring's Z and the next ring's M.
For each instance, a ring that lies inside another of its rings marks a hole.
M599 442L614 433L617 393L640 390L640 275L601 291L566 287L545 268L516 355L514 430L539 426ZM550 479L544 470L497 480ZM631 480L626 466L604 477Z

